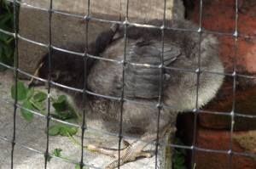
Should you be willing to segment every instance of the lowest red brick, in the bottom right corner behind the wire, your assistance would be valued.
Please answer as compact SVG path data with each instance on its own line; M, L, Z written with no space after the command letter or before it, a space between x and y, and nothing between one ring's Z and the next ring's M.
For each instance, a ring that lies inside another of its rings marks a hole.
M234 140L233 151L256 154L256 131L253 135L251 132L233 132ZM248 144L247 139L251 139L251 146ZM214 149L214 150L230 150L230 131L228 130L213 130L205 127L197 127L196 134L196 147L202 149ZM253 147L254 146L254 147ZM229 158L230 155L222 153L213 153L207 151L197 150L195 151L195 163L196 169L207 168L229 168ZM256 168L256 158L246 155L232 155L231 159L231 169L253 169Z

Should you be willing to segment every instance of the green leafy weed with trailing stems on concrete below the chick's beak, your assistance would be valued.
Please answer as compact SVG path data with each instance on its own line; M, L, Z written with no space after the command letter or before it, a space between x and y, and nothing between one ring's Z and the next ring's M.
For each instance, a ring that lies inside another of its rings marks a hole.
M36 92L36 93L35 93ZM47 93L35 90L34 87L28 88L25 87L23 82L17 82L17 90L16 85L13 85L11 87L11 97L12 99L17 99L17 101L23 101L21 104L22 107L26 108L27 110L20 108L21 115L26 119L26 121L32 121L33 119L33 113L29 110L34 110L36 108L39 110L43 115L47 115L44 112L45 104L43 101L48 98ZM17 97L17 98L16 98ZM53 97L49 97L51 101L53 102L53 107L55 108L55 114L49 114L51 116L54 116L58 119L61 119L62 121L67 121L69 123L77 124L77 122L74 120L76 118L79 119L79 121L82 121L81 117L79 116L78 112L73 109L73 107L68 104L67 97L65 95L61 95L58 99L54 99ZM79 144L72 136L73 134L79 132L78 127L73 127L68 124L61 124L57 121L50 120L55 123L55 125L50 126L44 130L45 133L48 133L51 136L60 134L62 136L66 136L70 138L73 143ZM82 144L79 144L79 146L83 146L84 149L87 149ZM68 159L67 157L61 156L61 150L62 149L55 149L55 151L52 153L52 155L73 161L71 159ZM90 149L87 149L90 152ZM50 160L50 156L48 157L47 161ZM88 166L83 166L82 169L88 169ZM75 166L75 169L80 169L79 165Z

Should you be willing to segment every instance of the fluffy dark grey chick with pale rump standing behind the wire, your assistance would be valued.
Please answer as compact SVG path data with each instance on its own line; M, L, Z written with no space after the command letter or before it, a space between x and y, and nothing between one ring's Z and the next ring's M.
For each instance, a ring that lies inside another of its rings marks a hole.
M162 20L139 20L137 23L161 26ZM166 20L166 26L175 29L198 29L198 25L187 20ZM60 48L84 53L85 44L66 42ZM141 139L144 140L156 139L158 129L162 134L175 120L178 112L201 108L207 104L224 79L221 75L224 67L218 58L218 40L211 34L203 33L200 38L197 32L166 29L162 42L161 29L128 25L125 39L125 26L114 25L110 30L103 31L95 42L91 42L87 52L102 58L89 57L86 61L86 89L89 92L117 98L123 95L125 99L145 104L130 101L120 104L118 99L107 99L88 93L84 105L86 118L119 121L120 106L123 106L123 123L143 128L145 133ZM125 61L122 61L124 54ZM53 50L49 73L48 55L45 54L39 61L35 76L44 79L51 76L53 82L61 85L84 88L83 57ZM38 80L32 79L29 86L38 83ZM59 88L73 98L74 104L82 112L83 93ZM161 109L158 119L159 106ZM140 140L126 144L127 147L120 150L91 144L88 148L119 158L105 167L109 169L123 165L125 161L134 161L138 156L150 157L151 154L143 151L147 144Z

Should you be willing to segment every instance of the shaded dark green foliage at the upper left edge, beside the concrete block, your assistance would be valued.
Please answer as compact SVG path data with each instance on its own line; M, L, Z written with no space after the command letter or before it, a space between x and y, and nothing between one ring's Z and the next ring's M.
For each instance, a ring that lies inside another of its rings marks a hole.
M14 3L9 1L0 1L0 29L3 31L15 32L15 25L18 28L19 4L15 8ZM15 20L16 19L16 20ZM15 60L15 37L0 31L0 62L6 65L14 65ZM17 30L18 31L18 30ZM0 65L0 71L6 70L6 67Z

